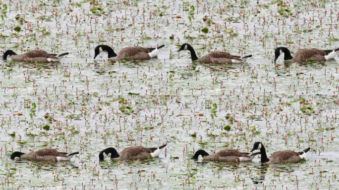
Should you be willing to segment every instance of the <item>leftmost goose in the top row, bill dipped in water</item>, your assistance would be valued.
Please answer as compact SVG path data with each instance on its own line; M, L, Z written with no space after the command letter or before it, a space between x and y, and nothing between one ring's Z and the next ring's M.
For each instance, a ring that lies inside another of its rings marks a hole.
M6 60L7 56L11 56L12 60L14 61L23 61L23 62L37 62L37 63L46 63L46 62L58 62L60 61L61 57L64 55L67 55L66 53L61 53L59 55L57 54L51 54L44 50L33 50L33 51L27 51L22 54L16 54L12 50L6 50L3 53L3 59Z

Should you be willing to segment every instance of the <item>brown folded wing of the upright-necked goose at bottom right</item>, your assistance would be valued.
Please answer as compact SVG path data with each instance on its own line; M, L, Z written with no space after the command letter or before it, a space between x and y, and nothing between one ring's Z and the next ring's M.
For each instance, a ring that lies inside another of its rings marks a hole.
M273 152L269 159L270 163L281 164L281 163L296 163L301 158L298 152L292 150L280 150Z

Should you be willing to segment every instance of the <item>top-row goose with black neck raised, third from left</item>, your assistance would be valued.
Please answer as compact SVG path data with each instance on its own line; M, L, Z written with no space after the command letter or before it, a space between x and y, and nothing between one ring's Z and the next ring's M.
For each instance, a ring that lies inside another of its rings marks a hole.
M195 54L195 51L193 49L193 47L189 44L183 44L181 45L180 49L178 51L181 50L189 50L191 52L191 58L192 61L197 61L197 62L202 62L202 63L242 63L244 62L244 60L246 60L249 57L252 57L252 55L247 55L244 57L240 57L237 55L231 55L227 52L223 52L223 51L214 51L211 52L207 55L204 55L200 58L197 57L197 55Z

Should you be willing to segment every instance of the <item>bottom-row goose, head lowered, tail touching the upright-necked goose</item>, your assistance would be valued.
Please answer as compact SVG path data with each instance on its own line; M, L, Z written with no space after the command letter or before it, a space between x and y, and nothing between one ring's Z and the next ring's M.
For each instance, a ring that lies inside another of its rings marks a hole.
M247 152L240 152L235 149L220 150L215 154L208 154L205 150L198 150L195 152L194 156L191 159L198 159L199 155L202 155L204 160L211 161L224 161L224 162L245 162L251 161L255 155L260 154L260 152L255 152L253 154Z

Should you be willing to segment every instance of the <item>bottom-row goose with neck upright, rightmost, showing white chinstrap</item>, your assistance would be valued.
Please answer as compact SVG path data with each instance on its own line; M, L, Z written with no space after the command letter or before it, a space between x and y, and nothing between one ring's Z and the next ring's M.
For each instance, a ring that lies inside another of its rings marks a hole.
M306 152L308 152L311 148L308 147L304 149L302 152L295 152L292 150L279 150L273 152L271 156L268 158L266 155L266 149L264 144L261 142L255 142L253 148L251 150L260 150L261 152L261 163L265 164L283 164L283 163L296 163L302 158L304 158Z

